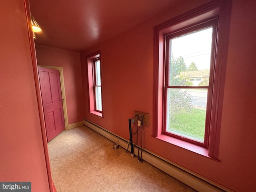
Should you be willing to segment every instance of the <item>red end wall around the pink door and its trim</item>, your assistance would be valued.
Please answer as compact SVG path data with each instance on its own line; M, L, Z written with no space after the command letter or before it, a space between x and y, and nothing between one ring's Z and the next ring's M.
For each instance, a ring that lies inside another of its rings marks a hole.
M84 98L81 82L80 53L36 45L38 65L63 68L68 124L80 122L84 116Z

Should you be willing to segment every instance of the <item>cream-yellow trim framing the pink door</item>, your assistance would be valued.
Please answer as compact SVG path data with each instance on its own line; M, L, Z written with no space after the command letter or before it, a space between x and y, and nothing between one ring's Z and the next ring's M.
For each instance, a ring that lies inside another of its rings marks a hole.
M67 104L66 104L66 94L65 94L65 85L64 85L64 76L63 76L63 68L62 67L56 67L56 66L45 66L45 65L38 65L40 67L46 67L51 69L59 70L60 72L60 86L61 86L61 94L63 99L63 113L64 113L64 119L65 119L65 130L68 130L68 112L67 112Z

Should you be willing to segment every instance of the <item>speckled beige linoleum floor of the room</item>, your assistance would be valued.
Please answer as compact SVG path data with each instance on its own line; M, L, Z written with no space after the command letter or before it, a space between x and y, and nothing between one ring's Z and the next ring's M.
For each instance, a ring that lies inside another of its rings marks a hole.
M86 126L63 131L48 143L57 192L194 192L158 168Z

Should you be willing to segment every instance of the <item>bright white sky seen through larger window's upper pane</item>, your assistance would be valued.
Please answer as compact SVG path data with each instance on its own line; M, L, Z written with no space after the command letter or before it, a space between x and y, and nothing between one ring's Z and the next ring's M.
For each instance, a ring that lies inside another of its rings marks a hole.
M171 41L172 54L175 58L182 56L187 67L195 62L198 70L210 68L212 27L174 38Z

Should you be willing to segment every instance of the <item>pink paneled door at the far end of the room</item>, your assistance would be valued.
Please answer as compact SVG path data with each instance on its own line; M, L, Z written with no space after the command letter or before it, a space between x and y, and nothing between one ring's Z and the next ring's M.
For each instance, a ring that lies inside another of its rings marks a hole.
M48 142L65 130L60 73L56 69L38 67L44 120Z

